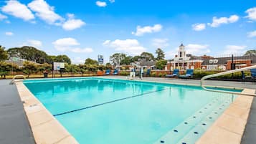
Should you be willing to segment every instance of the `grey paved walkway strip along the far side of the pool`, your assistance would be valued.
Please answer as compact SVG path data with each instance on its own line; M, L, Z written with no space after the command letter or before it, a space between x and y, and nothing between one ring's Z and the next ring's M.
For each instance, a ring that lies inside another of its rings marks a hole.
M126 80L125 76L103 76L110 77L114 79L123 79ZM135 80L139 80L136 77ZM170 82L176 84L187 84L187 85L200 85L200 80L191 80L191 79L176 79L176 78L165 78L165 77L143 77L143 80L152 81L152 82ZM217 81L217 80L206 80L205 85L220 86L220 87L241 87L241 88L250 88L256 89L255 82L230 82L230 81Z

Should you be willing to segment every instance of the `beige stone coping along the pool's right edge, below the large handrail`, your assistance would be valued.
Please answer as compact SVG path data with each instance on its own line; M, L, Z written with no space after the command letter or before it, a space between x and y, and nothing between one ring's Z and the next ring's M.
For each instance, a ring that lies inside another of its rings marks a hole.
M242 92L255 93L253 89ZM250 114L254 97L238 95L236 100L220 115L210 128L196 141L196 144L240 144Z

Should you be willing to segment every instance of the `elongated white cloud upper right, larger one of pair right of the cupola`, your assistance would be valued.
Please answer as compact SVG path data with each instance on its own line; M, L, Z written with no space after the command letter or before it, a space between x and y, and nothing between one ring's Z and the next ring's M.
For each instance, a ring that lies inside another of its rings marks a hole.
M208 23L208 25L210 27L219 27L222 24L230 24L230 23L234 23L238 20L239 20L239 16L237 16L237 15L232 15L229 17L220 17L220 18L217 18L216 16L214 16L212 19L212 24Z

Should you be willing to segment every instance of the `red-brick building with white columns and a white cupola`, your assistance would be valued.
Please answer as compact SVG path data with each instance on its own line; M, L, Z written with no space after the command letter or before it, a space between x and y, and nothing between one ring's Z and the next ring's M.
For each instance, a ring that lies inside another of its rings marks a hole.
M192 54L186 54L185 46L184 44L181 44L179 46L178 54L175 55L174 59L170 59L167 62L166 69L197 69L201 68L202 62L204 62L204 59L202 57L196 57Z

